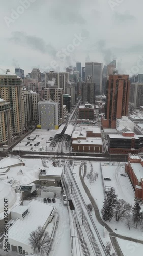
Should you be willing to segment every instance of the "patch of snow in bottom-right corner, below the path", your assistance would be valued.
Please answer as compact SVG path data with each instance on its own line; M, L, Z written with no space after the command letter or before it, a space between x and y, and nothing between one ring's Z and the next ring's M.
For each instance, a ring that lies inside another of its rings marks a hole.
M143 244L123 240L120 238L117 238L117 241L124 256L142 255Z

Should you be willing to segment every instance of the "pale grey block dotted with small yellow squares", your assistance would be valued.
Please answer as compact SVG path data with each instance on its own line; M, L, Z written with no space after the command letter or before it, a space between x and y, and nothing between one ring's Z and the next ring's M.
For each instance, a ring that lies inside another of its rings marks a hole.
M58 102L38 102L38 113L41 129L56 129L59 125L60 113L58 111Z

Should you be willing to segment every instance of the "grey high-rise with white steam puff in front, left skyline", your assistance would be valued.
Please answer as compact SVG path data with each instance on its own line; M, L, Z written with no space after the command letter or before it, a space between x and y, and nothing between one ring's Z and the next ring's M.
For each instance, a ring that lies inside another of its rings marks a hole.
M60 88L59 73L54 71L45 72L45 88L50 87Z

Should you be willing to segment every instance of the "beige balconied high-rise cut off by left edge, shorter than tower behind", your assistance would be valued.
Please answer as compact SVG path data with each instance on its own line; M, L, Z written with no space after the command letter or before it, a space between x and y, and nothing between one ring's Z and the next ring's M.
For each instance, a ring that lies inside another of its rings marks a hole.
M12 139L10 103L0 99L0 145L6 145Z

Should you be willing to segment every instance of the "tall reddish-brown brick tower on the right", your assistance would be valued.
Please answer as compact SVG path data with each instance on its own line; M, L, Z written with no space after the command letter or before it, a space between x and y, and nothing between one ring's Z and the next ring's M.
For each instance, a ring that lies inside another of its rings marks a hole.
M103 127L116 127L116 118L128 115L130 82L129 75L110 75L106 88L105 119Z

